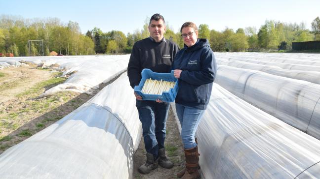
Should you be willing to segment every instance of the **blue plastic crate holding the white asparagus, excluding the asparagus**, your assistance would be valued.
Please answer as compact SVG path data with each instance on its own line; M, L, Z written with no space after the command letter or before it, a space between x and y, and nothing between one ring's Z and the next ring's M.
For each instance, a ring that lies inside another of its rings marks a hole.
M161 101L164 102L173 102L178 89L179 89L179 84L178 84L178 79L174 78L173 76L173 70L171 70L171 73L155 73L151 71L151 69L145 68L141 72L142 79L139 83L138 86L134 87L134 92L140 96L142 96L143 100L151 100L151 101L156 101L156 99L160 99ZM169 89L167 92L162 92L161 95L159 94L144 94L142 93L142 87L147 79L153 79L153 80L165 80L165 81L170 81L170 82L176 82L173 89Z

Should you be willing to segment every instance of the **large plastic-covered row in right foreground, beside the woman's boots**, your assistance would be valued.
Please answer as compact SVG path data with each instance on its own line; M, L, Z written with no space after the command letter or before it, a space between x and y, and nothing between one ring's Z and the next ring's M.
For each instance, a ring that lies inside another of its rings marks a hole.
M196 136L205 179L320 178L319 140L217 84Z

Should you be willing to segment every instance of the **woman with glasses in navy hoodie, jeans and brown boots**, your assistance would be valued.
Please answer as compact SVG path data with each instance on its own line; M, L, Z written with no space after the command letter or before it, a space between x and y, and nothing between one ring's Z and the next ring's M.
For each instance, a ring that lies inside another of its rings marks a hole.
M186 156L186 169L177 174L183 179L200 179L199 153L195 139L200 119L208 105L216 76L216 61L207 39L198 39L198 28L192 22L181 27L185 43L173 60L174 77L179 79L175 98L181 124L181 138Z

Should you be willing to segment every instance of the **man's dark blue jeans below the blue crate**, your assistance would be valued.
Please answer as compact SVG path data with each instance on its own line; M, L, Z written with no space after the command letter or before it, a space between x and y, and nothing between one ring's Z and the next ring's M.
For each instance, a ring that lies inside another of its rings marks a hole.
M137 100L136 107L142 123L143 139L146 151L158 157L159 149L164 148L165 123L170 103Z

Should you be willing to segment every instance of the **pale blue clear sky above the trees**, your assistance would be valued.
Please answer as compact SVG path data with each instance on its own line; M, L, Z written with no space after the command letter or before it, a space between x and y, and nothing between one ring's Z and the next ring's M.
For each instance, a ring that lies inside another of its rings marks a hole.
M210 30L249 26L258 30L267 19L304 22L311 29L311 22L320 16L320 0L0 0L0 5L0 15L76 21L83 33L94 27L132 33L154 13L163 15L174 32L187 21L207 24Z

